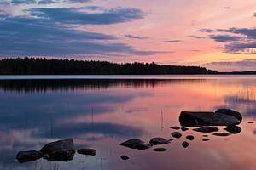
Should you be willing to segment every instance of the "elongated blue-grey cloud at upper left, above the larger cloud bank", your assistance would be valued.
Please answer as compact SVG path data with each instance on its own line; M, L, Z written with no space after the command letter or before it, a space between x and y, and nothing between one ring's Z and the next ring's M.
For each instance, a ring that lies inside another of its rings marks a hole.
M110 25L142 19L144 16L143 11L137 8L113 8L101 13L88 13L79 8L32 8L28 11L33 17L52 22L83 25Z

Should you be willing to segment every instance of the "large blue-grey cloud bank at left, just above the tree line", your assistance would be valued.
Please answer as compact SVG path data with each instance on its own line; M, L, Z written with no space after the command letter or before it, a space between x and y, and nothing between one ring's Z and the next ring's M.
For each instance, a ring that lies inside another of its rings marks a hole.
M116 37L59 26L47 19L9 17L0 20L1 55L70 56L75 54L153 55L172 51L141 51L109 42ZM104 42L102 42L104 41ZM108 42L106 42L108 41Z

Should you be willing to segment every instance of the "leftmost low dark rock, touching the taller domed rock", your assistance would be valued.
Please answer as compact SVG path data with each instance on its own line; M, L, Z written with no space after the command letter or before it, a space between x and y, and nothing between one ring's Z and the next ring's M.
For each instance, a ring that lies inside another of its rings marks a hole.
M26 162L26 161L36 161L43 157L43 154L36 150L29 150L29 151L19 151L19 153L16 155L16 159L20 162Z

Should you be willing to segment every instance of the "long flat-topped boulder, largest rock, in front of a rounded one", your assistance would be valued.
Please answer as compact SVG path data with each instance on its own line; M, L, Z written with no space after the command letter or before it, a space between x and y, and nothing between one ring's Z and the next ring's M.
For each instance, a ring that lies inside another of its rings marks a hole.
M236 116L220 112L182 111L179 122L183 127L232 126L241 122Z

